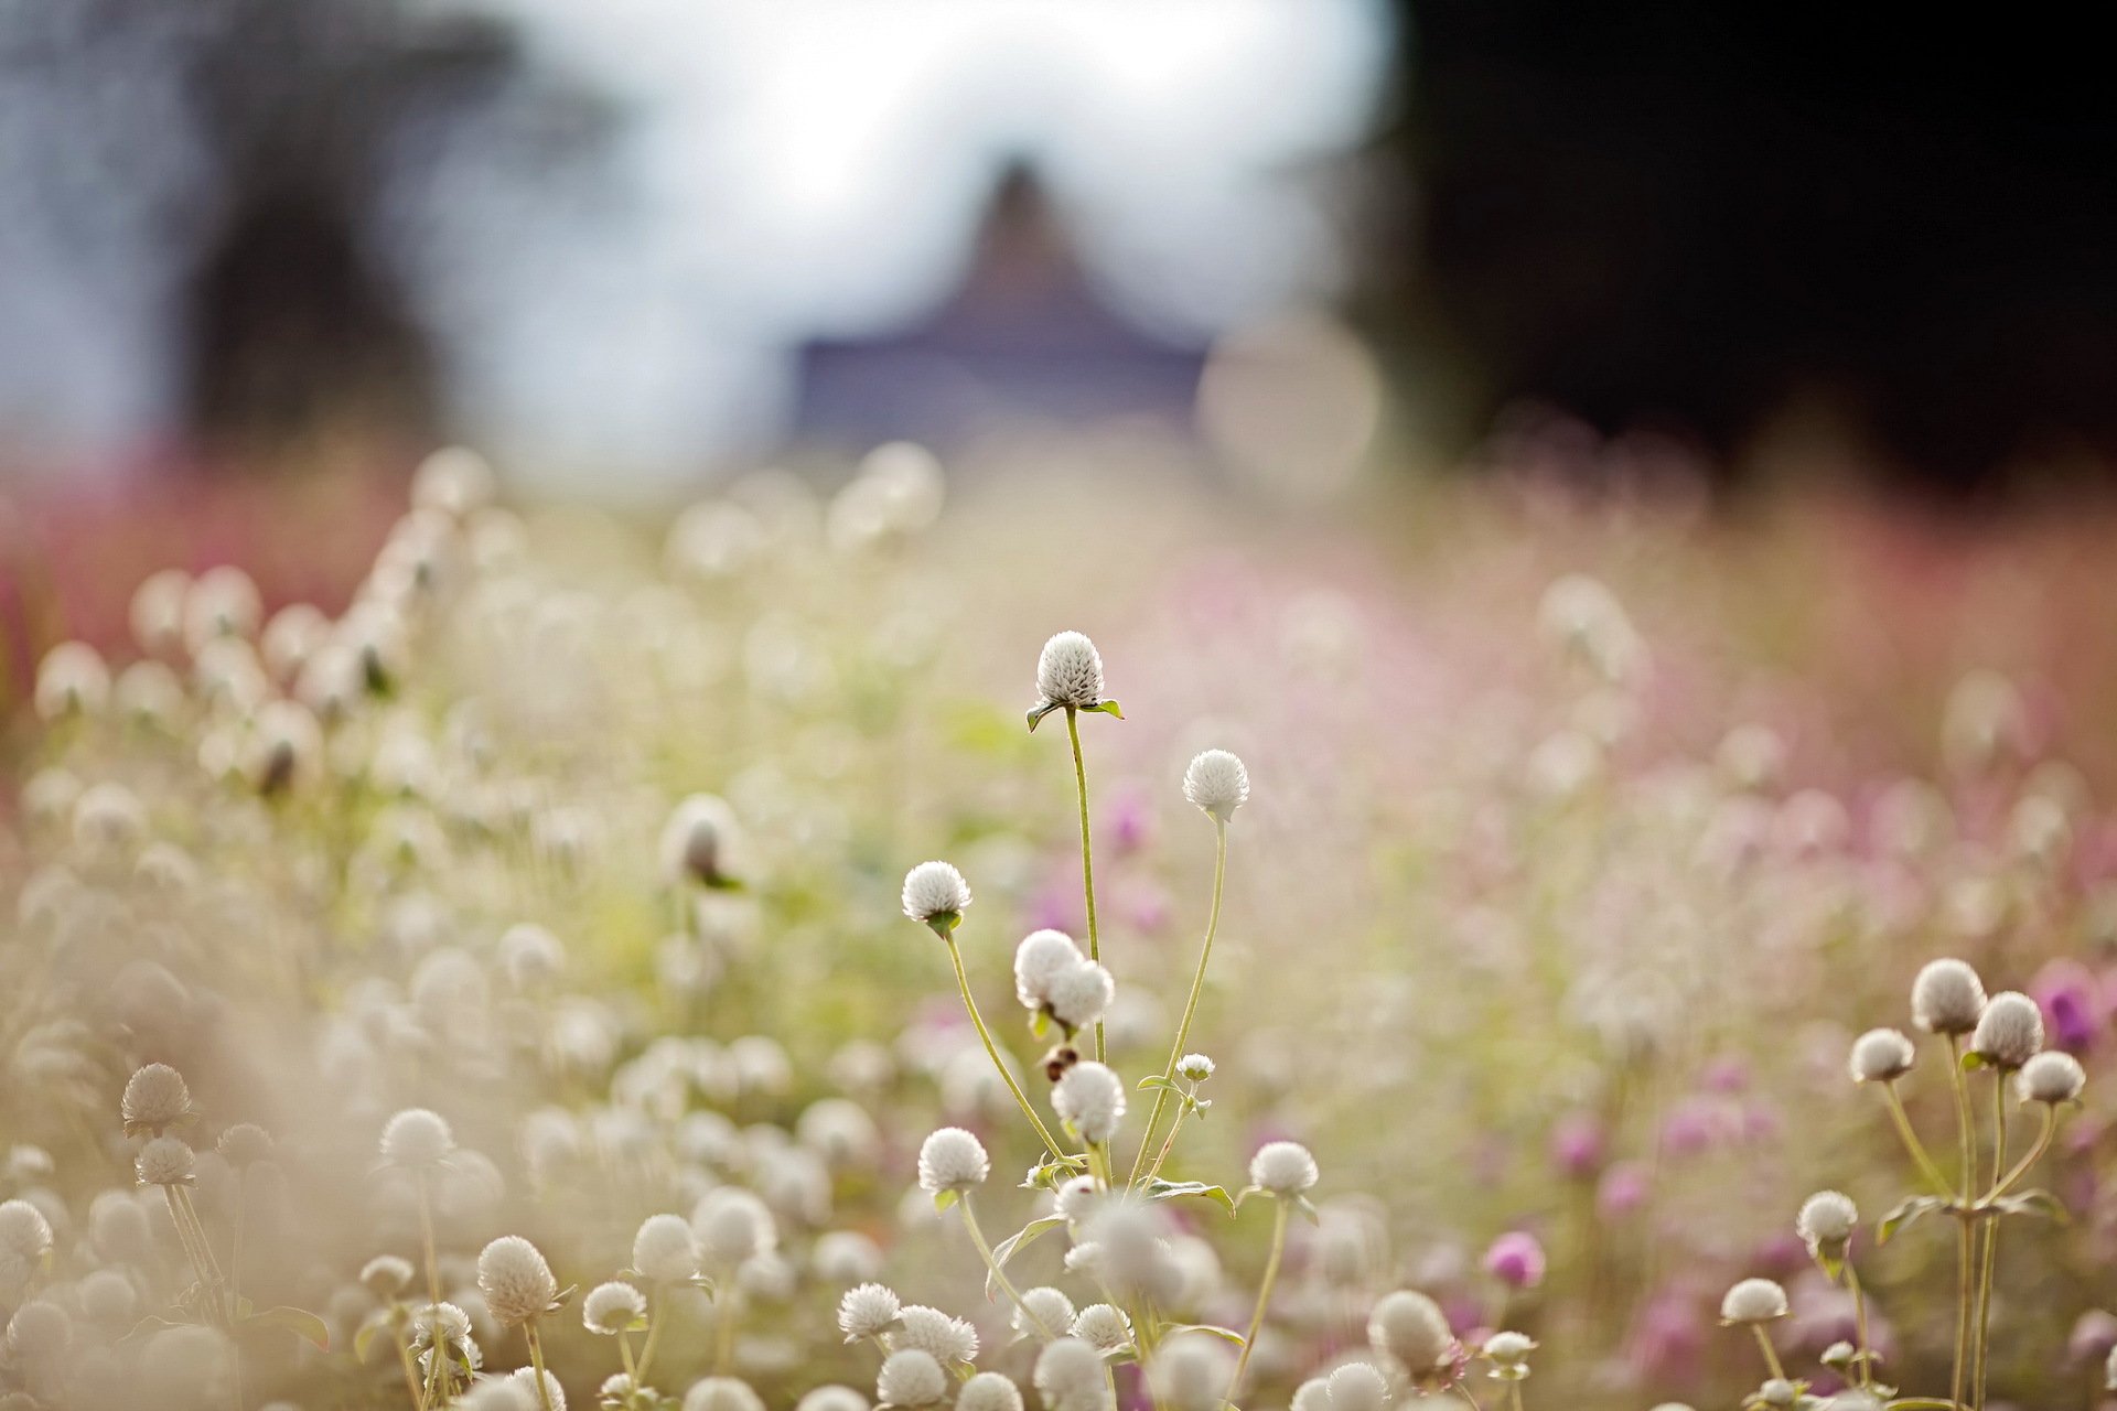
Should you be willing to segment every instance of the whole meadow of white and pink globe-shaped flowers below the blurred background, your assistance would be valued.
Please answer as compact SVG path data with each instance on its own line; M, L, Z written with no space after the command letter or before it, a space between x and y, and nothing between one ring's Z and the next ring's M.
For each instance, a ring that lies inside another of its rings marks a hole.
M2077 702L1846 707L1683 516L942 501L442 453L47 652L0 1407L2100 1403Z

